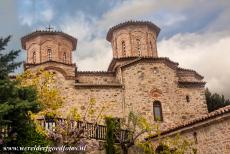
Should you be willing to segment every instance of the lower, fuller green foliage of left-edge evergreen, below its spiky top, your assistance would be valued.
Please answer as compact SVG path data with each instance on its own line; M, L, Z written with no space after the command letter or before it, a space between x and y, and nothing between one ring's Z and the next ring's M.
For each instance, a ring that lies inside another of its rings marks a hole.
M18 142L20 138L23 141L30 140L33 125L28 112L40 110L35 101L36 91L31 87L18 88L15 81L0 80L0 98L0 123L3 125L10 123L11 126L6 144L17 145L21 143ZM33 135L33 137L36 136ZM28 142L34 142L34 140Z

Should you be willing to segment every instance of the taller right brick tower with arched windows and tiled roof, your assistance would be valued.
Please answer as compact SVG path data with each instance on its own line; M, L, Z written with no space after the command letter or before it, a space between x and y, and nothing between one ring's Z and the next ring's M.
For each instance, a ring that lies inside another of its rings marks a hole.
M111 28L107 40L111 42L113 57L157 57L156 40L160 28L151 22L129 21Z

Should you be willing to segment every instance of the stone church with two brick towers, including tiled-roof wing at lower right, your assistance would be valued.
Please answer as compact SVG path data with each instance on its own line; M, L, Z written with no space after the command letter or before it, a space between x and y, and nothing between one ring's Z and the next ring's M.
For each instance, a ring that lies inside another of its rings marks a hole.
M137 112L152 124L159 121L164 136L179 132L190 137L198 153L230 153L230 109L208 113L203 76L158 57L159 32L146 21L118 24L106 36L113 52L108 70L79 71L72 61L76 38L59 31L35 31L21 39L27 52L24 68L43 67L56 74L65 97L63 116L73 107L84 113L95 98L98 111L106 105L106 115L125 118L130 111ZM157 141L154 135L149 139Z

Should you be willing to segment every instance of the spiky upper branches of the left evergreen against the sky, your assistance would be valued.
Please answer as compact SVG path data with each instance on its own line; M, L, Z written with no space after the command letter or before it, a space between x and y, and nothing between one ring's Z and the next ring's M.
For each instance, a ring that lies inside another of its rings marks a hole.
M20 50L5 51L5 47L11 36L0 38L0 79L6 79L8 74L21 65L21 62L14 62ZM5 53L5 54L4 54Z

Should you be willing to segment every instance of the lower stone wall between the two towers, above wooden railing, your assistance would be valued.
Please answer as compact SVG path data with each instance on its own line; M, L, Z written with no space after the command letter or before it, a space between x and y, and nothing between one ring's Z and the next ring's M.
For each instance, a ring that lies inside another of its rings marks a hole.
M76 88L74 86L75 80L66 80L60 72L56 70L51 71L55 72L57 87L61 95L65 98L63 107L60 109L63 117L73 108L77 108L78 112L84 115L91 98L96 100L94 106L96 111L95 116L99 114L103 106L106 107L103 115L120 118L123 115L120 88ZM92 117L92 119L89 118L89 121L95 118L96 117ZM101 122L103 123L104 121Z

